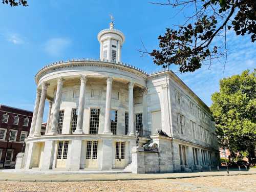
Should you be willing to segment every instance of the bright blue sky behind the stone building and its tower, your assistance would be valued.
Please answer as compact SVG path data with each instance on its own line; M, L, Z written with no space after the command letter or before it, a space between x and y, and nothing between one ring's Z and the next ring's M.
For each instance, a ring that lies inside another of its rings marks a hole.
M108 28L109 14L115 17L115 28L125 37L122 61L148 73L161 68L152 58L141 57L141 40L148 51L157 48L157 37L166 27L180 24L182 15L175 9L148 1L28 1L28 7L11 8L0 4L0 103L33 110L36 85L34 76L48 63L72 58L98 58L97 34ZM227 36L228 59L203 66L194 73L173 71L207 105L219 90L219 80L243 70L255 68L255 44L249 37ZM45 116L47 114L47 106Z

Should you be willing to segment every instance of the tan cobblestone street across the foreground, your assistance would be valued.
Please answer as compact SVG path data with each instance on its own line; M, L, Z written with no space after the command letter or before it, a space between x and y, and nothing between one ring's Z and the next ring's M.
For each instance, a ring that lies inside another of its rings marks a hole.
M0 191L256 191L256 175L87 182L1 181Z

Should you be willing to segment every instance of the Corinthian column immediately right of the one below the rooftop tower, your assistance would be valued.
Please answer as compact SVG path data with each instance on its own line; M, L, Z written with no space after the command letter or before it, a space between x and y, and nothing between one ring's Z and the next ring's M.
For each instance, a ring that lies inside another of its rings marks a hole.
M134 82L129 83L129 135L134 136L134 104L133 104Z

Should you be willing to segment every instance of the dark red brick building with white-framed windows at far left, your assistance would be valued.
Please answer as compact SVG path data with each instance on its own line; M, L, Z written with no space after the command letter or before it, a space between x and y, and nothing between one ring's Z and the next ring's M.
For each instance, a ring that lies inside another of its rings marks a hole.
M14 167L16 155L25 149L33 112L0 105L0 167Z

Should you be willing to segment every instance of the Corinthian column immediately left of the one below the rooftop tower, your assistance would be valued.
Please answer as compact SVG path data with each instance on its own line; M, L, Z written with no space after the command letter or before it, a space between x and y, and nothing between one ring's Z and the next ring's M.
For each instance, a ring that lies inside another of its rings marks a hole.
M79 104L78 104L78 114L77 114L77 125L74 134L82 134L82 121L83 121L83 111L84 111L84 100L86 98L86 81L87 76L82 75L80 85L80 95L79 95Z

